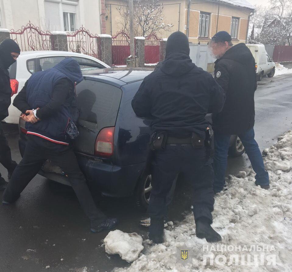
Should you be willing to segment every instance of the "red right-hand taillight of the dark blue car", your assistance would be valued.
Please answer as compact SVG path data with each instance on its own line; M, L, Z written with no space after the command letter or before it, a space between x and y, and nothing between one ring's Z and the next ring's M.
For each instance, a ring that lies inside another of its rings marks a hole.
M111 157L114 154L114 127L104 128L97 135L94 147L94 155Z

